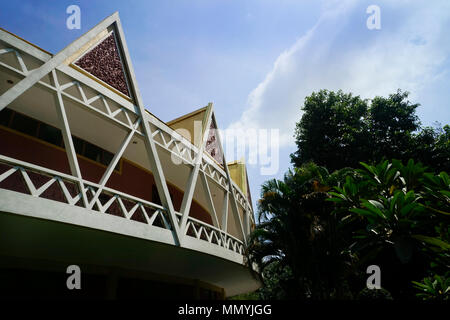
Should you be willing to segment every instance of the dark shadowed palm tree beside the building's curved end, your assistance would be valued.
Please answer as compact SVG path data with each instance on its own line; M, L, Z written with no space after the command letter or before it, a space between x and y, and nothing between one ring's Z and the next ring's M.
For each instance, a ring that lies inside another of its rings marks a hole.
M289 170L283 181L262 185L258 203L259 224L247 248L249 263L256 263L263 281L267 270L286 270L289 298L342 298L349 256L338 228L333 205L325 200L329 185L341 173L330 175L324 167L308 163Z

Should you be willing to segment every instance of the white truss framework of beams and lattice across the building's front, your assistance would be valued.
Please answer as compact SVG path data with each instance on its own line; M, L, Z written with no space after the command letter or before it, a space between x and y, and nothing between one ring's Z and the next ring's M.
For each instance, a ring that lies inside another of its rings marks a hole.
M66 59L73 56L80 48L88 44L89 41L92 41L99 32L111 27L116 32L122 50L123 63L131 80L129 85L133 96L132 102L124 99L113 90L109 90L107 87L100 85L65 63ZM109 16L53 56L3 30L0 30L0 41L2 45L0 48L0 56L3 54L13 54L15 56L15 61L11 63L0 61L0 68L12 72L21 78L18 83L4 92L0 97L0 111L33 86L39 86L52 93L57 105L56 112L60 124L59 127L62 130L71 170L71 174L68 175L0 155L0 162L10 166L10 169L0 174L0 182L12 174L20 173L29 195L32 197L42 197L48 188L58 185L65 197L63 201L67 205L81 206L95 214L103 214L113 204L118 205L122 217L125 219L133 219L133 216L139 213L142 214L145 222L149 226L157 226L170 230L175 245L183 247L184 239L189 236L221 246L239 254L243 253L246 239L250 232L250 223L254 222L251 204L231 180L227 166L225 165L222 168L204 152L208 130L205 130L201 144L196 147L166 124L145 111L118 13ZM25 60L31 60L24 59L25 56L31 58L33 63L27 64ZM70 79L70 81L61 82L61 77ZM93 90L96 94L87 98L87 90L91 92ZM71 101L77 107L95 113L103 120L119 126L127 132L98 183L88 181L82 176L75 153L64 101ZM112 108L112 104L119 104L120 108ZM207 123L204 128L209 128L211 121L215 121L212 104L208 105L207 112ZM161 205L136 198L106 186L118 161L135 136L141 137L145 142L150 170L154 176L162 203ZM164 163L160 161L157 147L178 157L183 161L182 165L190 168L180 212L176 212L174 209L163 172ZM226 163L225 156L223 156L223 163ZM46 176L48 181L36 187L32 179L30 179L31 172ZM222 208L216 208L215 206L210 191L210 181L213 181L223 192L224 201ZM205 192L208 204L207 209L211 214L213 225L189 216L197 183L203 186L202 190ZM75 189L77 192L75 194L69 191L69 184L76 186ZM109 197L109 200L102 203L100 197L102 196L104 198L105 195ZM238 229L242 240L230 235L227 231L229 205L231 206L234 219L239 225ZM244 219L239 214L239 208L244 213ZM222 219L219 219L219 216Z

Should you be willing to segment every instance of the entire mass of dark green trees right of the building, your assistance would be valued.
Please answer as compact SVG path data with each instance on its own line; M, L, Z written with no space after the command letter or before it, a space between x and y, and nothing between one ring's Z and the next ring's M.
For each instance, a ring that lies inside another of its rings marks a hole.
M418 106L400 90L305 98L295 167L262 185L247 247L260 298L448 299L450 126L421 127Z

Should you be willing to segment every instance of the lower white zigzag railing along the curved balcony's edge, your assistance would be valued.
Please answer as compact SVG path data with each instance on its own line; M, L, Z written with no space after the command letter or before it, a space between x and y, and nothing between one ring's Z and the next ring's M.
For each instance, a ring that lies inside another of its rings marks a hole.
M16 179L19 179L19 181L12 181L10 184L12 188L5 186L1 188L63 202L71 206L84 207L80 181L76 177L3 155L0 155L0 164L3 167L7 166L6 170L0 171L0 183L14 174ZM101 187L87 180L82 180L82 185L84 185L86 203L90 210L173 230L167 210L156 203L108 187ZM102 188L101 194L95 197L99 188ZM55 192L56 190L59 192ZM180 220L181 213L177 212L176 215ZM242 241L193 217L188 217L183 234L243 254Z

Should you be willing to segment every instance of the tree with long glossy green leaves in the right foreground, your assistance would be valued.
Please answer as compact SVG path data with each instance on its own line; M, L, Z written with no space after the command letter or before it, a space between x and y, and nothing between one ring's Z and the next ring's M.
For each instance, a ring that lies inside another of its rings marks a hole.
M358 221L351 251L362 265L378 264L385 287L413 296L411 280L450 268L450 179L409 160L383 161L348 175L328 201L343 220Z

